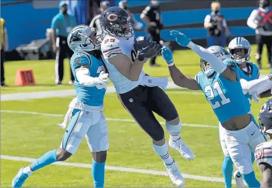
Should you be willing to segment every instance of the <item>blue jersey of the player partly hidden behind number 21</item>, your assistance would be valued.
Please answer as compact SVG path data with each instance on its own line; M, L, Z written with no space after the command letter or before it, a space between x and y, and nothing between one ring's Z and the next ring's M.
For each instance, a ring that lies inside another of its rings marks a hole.
M240 69L239 70L240 78L243 78L243 79L245 79L247 81L259 79L260 72L259 72L258 66L253 62L247 62L247 64L248 64L248 67L250 67L250 72L247 73L243 69L239 68ZM247 99L249 100L249 102L251 104L252 95L247 93L247 94L245 94L245 96L247 97Z

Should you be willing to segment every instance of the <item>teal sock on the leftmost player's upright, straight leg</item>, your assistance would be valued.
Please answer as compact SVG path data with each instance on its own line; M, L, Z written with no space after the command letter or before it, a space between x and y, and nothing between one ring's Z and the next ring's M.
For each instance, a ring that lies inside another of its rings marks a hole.
M97 163L92 160L92 175L94 179L95 188L104 188L105 182L105 162Z

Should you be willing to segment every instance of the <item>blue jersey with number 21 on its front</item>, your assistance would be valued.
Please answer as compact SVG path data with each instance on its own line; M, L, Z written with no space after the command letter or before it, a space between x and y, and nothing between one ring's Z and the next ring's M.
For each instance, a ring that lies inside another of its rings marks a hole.
M236 72L237 80L240 80L237 64L233 61L225 63ZM202 71L198 72L195 79L220 123L250 112L250 104L243 93L240 81L230 81L217 72L208 78Z

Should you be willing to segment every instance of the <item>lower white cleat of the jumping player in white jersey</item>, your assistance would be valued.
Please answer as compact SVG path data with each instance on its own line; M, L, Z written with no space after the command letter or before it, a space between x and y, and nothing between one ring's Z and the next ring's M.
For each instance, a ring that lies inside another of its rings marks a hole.
M172 183L177 187L183 187L185 184L185 180L178 169L177 162L174 161L171 165L164 164L164 167Z

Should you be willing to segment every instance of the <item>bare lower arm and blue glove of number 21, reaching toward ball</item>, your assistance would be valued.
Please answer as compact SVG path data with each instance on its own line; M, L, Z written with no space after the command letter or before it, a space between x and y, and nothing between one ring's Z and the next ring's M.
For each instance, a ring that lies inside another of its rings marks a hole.
M184 88L188 88L191 90L201 90L197 81L189 76L185 76L175 65L173 60L173 54L171 50L165 46L161 49L162 58L166 61L170 76L173 82Z

